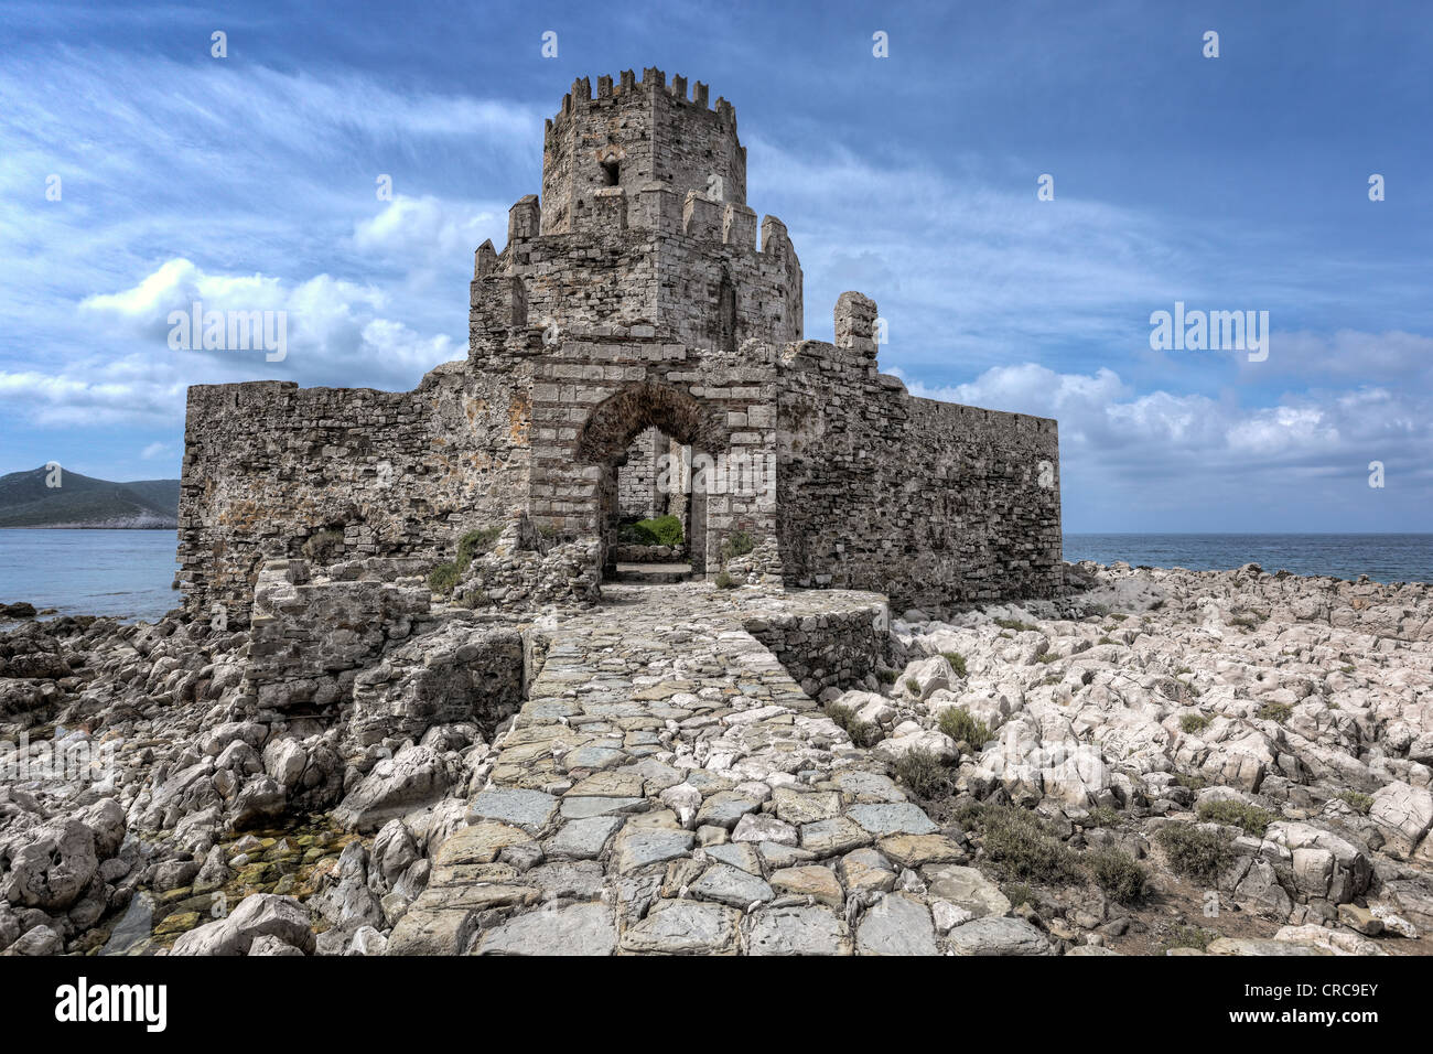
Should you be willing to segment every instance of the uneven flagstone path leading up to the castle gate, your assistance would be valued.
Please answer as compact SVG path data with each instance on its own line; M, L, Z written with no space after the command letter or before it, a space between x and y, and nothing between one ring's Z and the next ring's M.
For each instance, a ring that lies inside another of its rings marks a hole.
M979 915L1012 929L992 939L1042 951L1039 931L999 918L1009 903L959 866L960 846L739 628L764 605L818 614L878 598L605 594L550 631L471 826L440 848L390 954L936 954L937 926ZM950 895L934 916L931 883Z

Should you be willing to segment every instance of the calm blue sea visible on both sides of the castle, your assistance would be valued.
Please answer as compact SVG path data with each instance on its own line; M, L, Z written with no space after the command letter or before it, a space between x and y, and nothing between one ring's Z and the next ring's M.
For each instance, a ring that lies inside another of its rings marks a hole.
M1065 535L1065 559L1430 582L1433 535ZM173 531L0 531L0 602L155 621L173 575Z

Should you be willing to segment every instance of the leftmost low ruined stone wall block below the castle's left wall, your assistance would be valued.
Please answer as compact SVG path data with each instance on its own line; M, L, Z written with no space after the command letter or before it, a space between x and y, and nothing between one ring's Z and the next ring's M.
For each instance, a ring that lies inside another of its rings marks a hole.
M254 592L248 695L265 713L318 713L347 703L373 665L430 615L414 579L310 581L307 561L269 561Z

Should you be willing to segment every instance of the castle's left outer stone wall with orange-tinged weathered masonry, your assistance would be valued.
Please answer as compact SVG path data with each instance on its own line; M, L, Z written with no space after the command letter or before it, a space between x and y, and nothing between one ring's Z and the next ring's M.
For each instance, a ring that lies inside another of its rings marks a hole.
M179 493L178 581L186 607L248 619L265 559L298 558L322 532L342 559L433 564L466 531L526 502L529 386L523 361L433 370L414 391L189 389Z

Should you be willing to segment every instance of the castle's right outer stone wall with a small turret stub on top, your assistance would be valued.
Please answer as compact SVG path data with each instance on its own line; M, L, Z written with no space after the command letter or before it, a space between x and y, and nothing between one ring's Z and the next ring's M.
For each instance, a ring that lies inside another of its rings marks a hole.
M1056 423L911 397L877 371L874 308L844 295L845 347L804 341L781 357L787 585L873 589L931 611L1053 594Z

